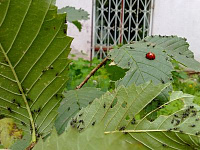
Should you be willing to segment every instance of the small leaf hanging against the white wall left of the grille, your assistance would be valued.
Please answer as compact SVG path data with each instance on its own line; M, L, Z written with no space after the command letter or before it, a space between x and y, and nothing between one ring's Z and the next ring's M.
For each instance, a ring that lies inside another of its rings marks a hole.
M79 22L80 20L88 20L89 14L83 9L75 9L75 7L66 6L61 9L58 9L58 13L67 13L67 21L73 23L79 31L82 29L82 25Z

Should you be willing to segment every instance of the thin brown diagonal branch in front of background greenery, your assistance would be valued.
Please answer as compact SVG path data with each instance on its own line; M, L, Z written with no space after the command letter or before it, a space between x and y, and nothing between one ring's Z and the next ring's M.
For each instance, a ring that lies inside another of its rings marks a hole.
M97 70L98 70L99 68L101 68L108 60L109 60L109 58L106 57L100 64L98 64L98 66L97 66L96 68L94 68L94 69L90 72L90 74L85 78L85 80L84 80L79 86L76 87L76 89L82 88L82 86L83 86L85 83L87 83L87 81L91 78L91 76L93 76L93 75L95 74L95 72L97 72Z

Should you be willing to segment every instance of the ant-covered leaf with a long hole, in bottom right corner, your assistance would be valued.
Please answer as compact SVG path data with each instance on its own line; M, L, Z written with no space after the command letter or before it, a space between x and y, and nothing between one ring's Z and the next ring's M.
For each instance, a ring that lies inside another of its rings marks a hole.
M194 96L174 92L167 105L175 100L182 100L184 107L169 116L160 116L155 121L146 119L155 109L144 118L138 120L135 125L127 126L123 132L127 133L127 141L135 143L135 140L149 149L199 149L200 148L200 121L199 106L193 104ZM119 132L119 131L115 131ZM110 133L115 133L110 132Z

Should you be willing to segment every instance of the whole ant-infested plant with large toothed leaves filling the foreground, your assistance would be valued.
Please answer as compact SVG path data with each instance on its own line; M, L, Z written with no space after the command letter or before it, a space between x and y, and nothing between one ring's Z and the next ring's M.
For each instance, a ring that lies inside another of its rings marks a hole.
M62 94L72 41L65 35L66 16L57 15L53 0L0 2L0 116L13 118L24 132L12 149L200 148L198 98L171 91L168 101L164 100L172 77L184 77L174 72L173 61L199 70L184 39L153 36L116 48L110 53L116 65L108 62L92 77L107 80L105 94L94 88ZM150 51L155 59L145 57ZM89 64L84 60L76 63ZM75 68L72 76L81 74L72 79L75 82L91 70L80 66L71 66ZM119 74L113 76L116 72ZM110 79L115 86L109 85ZM144 112L158 96L162 103ZM155 113L158 115L149 120ZM52 131L54 120L60 136Z

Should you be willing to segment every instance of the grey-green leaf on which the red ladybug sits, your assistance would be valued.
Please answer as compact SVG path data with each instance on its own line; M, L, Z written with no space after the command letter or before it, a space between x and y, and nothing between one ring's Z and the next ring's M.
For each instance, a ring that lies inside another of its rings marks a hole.
M146 58L148 52L155 54L155 60ZM152 47L148 43L136 42L116 48L110 55L117 66L129 69L125 77L116 82L116 86L139 85L150 80L155 84L166 83L172 77L172 64L160 46Z

